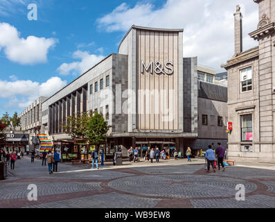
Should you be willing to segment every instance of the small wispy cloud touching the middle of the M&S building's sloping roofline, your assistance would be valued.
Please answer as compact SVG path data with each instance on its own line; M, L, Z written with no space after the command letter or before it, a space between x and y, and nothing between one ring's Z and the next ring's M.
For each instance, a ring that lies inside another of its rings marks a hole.
M94 54L89 54L88 51L75 51L73 53L73 58L80 59L80 62L63 63L57 68L60 75L68 75L71 72L73 74L83 74L88 69L91 69L100 60L105 58L104 56L97 56Z

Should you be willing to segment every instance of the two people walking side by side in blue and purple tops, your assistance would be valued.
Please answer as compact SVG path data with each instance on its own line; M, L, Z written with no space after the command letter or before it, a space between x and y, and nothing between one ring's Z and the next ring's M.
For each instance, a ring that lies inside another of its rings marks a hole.
M208 150L205 154L205 160L207 162L207 172L210 172L210 165L213 169L213 172L215 173L215 159L217 157L217 164L218 164L218 170L220 171L220 166L222 166L222 171L225 171L224 167L224 155L226 152L226 149L222 147L222 144L218 143L218 148L215 149L215 152L213 150L213 146L209 145Z

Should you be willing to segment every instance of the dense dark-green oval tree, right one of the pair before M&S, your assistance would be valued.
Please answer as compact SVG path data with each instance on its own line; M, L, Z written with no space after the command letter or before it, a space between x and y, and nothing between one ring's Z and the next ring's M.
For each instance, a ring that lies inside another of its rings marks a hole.
M99 150L100 145L105 144L107 139L108 122L105 121L102 114L94 112L94 115L90 117L87 130L89 143L94 144L97 150Z

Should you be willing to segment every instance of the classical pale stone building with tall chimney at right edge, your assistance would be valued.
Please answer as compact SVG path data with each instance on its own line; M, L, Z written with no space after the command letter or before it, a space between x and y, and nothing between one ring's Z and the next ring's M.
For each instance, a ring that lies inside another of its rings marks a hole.
M228 71L228 112L233 130L229 157L235 160L275 162L275 1L254 0L259 23L250 37L258 46L242 51L242 15L235 16L235 55Z

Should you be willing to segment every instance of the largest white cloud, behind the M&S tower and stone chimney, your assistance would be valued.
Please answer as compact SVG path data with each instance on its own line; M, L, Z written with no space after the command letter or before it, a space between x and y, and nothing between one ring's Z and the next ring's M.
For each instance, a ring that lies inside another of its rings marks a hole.
M107 32L126 32L132 24L156 28L184 28L184 57L198 56L198 62L222 71L220 65L233 56L233 12L240 4L243 15L244 50L257 42L247 37L258 24L258 4L247 0L167 0L156 8L122 3L97 20Z

